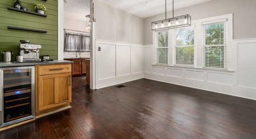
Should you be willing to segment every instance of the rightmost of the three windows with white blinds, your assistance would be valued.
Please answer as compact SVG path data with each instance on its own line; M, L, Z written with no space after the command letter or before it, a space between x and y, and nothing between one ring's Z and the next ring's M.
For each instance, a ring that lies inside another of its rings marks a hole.
M226 20L226 19L225 19ZM202 24L203 67L227 69L226 21Z

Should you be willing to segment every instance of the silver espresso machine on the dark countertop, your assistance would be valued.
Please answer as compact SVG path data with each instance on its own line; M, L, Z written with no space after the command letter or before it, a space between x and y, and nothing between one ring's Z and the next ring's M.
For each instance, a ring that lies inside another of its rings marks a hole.
M23 56L24 61L41 61L39 58L39 44L20 44L20 56Z

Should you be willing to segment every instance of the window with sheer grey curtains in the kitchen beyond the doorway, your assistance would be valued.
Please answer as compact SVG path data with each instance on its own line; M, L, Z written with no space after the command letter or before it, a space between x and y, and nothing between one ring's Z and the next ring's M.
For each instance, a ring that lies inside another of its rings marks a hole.
M65 52L90 52L90 36L65 32Z

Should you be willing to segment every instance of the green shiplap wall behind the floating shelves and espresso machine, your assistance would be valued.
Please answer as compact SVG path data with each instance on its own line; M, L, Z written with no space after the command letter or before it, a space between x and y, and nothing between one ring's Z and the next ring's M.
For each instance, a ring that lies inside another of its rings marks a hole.
M30 44L40 44L39 51L42 55L49 55L50 59L58 59L58 0L20 0L21 6L28 8L30 12L36 12L36 4L44 4L47 17L7 10L13 7L16 0L0 0L0 53L13 51L12 61L16 61L16 55L20 52L20 40L30 40ZM47 33L8 29L7 26L45 30ZM0 62L3 61L2 53Z

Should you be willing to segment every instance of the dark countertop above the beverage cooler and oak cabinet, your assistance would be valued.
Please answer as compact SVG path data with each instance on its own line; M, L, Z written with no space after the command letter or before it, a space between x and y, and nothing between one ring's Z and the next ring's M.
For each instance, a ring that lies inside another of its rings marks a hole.
M0 62L0 67L17 67L17 66L35 66L35 65L50 65L50 64L71 64L74 63L68 60L54 60L49 62L36 63L14 63L14 62Z

